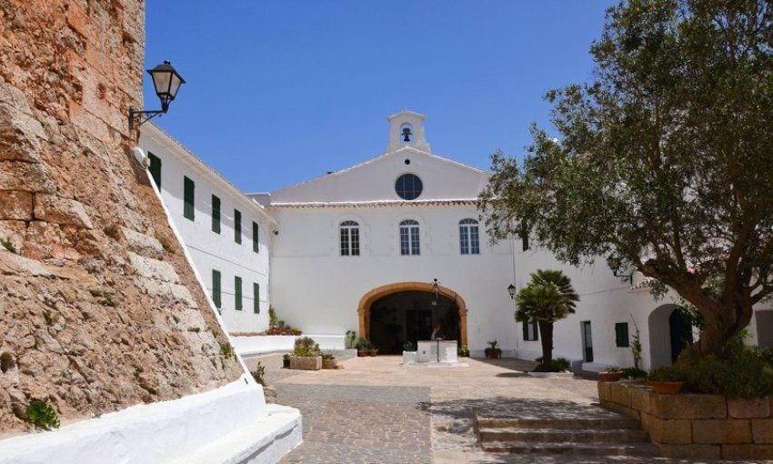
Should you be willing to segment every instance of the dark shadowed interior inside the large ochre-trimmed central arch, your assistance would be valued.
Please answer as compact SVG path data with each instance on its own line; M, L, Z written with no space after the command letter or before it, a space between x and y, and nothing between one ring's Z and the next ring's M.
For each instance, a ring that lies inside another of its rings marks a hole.
M434 303L434 304L433 304ZM370 307L370 341L381 354L399 354L403 344L438 337L459 340L459 308L454 300L422 291L398 292L377 299Z

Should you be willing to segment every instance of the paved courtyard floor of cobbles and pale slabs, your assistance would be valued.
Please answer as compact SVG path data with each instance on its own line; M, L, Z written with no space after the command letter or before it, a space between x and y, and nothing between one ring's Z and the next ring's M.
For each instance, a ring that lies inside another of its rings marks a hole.
M304 442L282 464L688 462L483 452L473 430L474 409L524 418L571 418L595 410L595 381L529 378L523 371L534 363L528 361L469 359L465 368L426 368L381 356L349 358L339 362L342 369L319 371L282 369L280 356L247 364L254 368L258 361L278 402L303 413Z

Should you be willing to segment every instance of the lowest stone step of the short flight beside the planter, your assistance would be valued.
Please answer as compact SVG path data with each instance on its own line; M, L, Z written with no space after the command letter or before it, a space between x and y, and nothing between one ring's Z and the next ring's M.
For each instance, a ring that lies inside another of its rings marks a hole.
M658 456L658 447L651 443L524 443L521 441L489 441L481 444L484 451L529 455L580 456Z

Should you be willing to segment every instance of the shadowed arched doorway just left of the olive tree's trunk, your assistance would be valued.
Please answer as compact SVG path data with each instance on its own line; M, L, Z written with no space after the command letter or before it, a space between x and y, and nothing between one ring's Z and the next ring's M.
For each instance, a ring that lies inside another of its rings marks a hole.
M677 305L656 308L649 315L648 326L650 368L673 364L694 341L692 321Z

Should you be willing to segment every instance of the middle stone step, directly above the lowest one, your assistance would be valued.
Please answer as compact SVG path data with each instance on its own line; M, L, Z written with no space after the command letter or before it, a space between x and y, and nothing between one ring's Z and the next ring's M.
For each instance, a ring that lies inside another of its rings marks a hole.
M648 441L642 429L479 429L481 443L489 441L633 443Z

